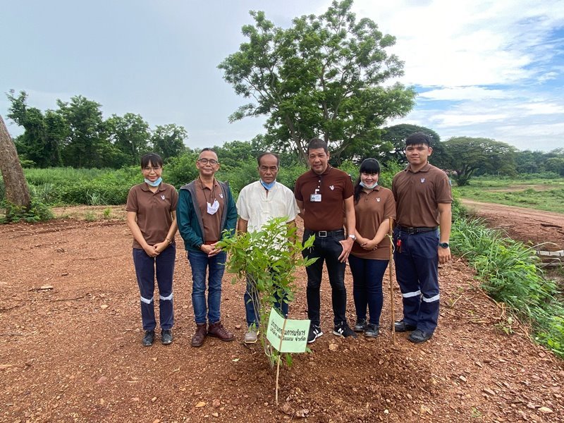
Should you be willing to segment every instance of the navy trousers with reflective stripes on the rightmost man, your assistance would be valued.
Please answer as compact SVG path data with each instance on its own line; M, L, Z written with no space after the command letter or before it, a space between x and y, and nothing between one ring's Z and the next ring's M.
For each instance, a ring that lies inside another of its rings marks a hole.
M403 320L433 333L439 320L439 231L408 234L396 228L393 245L396 278L403 297Z

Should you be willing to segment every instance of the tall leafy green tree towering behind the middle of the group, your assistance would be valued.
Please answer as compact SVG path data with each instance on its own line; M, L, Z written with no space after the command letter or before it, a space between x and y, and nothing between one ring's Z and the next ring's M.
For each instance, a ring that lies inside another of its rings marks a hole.
M264 12L250 12L248 41L220 63L235 92L253 99L230 116L266 115L276 149L292 149L306 161L307 140L322 137L338 162L358 145L373 142L388 118L407 114L415 91L384 82L403 74L403 63L374 21L357 20L352 0L333 1L321 16L302 16L288 29Z

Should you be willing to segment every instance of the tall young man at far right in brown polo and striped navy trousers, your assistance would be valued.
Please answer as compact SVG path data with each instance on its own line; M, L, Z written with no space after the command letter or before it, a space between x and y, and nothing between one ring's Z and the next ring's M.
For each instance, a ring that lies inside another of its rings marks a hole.
M446 173L429 164L432 152L429 135L407 137L409 164L392 182L398 216L394 259L403 298L403 319L394 325L396 332L410 331L408 339L414 343L433 336L439 319L438 266L450 260L453 196Z

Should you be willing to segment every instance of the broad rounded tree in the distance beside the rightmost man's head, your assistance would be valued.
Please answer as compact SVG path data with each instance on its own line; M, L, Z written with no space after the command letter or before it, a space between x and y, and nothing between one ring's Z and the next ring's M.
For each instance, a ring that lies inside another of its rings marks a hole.
M435 166L453 174L460 186L468 185L476 171L515 176L515 147L489 138L453 137L433 152Z

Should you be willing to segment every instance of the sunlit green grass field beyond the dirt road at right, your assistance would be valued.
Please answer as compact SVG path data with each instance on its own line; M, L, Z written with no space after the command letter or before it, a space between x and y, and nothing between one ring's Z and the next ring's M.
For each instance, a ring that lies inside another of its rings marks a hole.
M470 186L455 187L455 192L469 200L564 214L564 178L531 180L474 178L470 183Z

